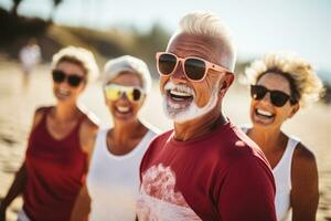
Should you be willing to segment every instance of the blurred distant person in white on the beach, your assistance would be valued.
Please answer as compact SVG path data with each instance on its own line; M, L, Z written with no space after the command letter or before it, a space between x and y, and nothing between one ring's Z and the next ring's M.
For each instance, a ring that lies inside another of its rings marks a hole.
M35 39L30 39L28 44L21 49L19 59L23 71L23 85L26 86L33 67L41 60L41 50Z

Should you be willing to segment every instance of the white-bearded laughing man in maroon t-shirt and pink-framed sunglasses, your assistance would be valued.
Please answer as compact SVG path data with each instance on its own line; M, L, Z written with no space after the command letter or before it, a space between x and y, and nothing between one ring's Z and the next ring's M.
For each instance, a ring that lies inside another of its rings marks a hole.
M212 12L184 15L157 53L174 129L158 136L141 161L139 220L276 220L265 156L222 112L234 65L228 31Z

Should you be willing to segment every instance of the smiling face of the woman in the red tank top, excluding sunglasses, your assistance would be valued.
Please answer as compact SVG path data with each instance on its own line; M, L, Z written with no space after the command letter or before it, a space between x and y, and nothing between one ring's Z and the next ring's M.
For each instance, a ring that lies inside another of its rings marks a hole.
M63 82L53 82L53 93L57 102L76 103L86 86L86 74L83 67L76 63L63 61L55 66L55 70L63 72L66 76ZM71 75L83 77L83 81L77 86L72 86L67 82L67 76Z

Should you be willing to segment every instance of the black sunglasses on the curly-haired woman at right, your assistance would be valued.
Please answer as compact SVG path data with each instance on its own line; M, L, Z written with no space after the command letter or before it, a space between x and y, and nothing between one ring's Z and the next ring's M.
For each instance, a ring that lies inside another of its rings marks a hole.
M271 104L277 107L282 107L287 103L287 101L290 101L291 104L297 103L297 101L292 99L290 95L281 91L271 91L263 85L250 85L250 96L254 99L263 99L267 93L270 93Z

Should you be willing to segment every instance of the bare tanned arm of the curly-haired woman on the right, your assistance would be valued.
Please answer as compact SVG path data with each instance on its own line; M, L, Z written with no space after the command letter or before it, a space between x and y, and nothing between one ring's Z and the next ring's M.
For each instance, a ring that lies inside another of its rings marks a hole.
M291 180L292 220L316 220L319 203L318 169L313 154L301 144L293 155Z

